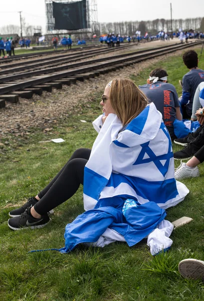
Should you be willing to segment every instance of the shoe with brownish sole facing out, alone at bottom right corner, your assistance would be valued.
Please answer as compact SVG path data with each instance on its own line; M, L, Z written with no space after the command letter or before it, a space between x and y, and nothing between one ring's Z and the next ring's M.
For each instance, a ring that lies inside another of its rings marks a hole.
M204 281L204 261L192 258L181 260L178 264L178 271L186 279Z

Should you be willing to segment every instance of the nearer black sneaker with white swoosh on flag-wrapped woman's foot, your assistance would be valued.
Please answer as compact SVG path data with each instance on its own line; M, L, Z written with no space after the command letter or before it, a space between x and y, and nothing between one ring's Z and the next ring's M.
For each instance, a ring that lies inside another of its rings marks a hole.
M41 218L34 218L31 215L31 207L29 207L20 216L10 218L8 226L13 230L36 229L45 227L50 220L48 214L42 215Z

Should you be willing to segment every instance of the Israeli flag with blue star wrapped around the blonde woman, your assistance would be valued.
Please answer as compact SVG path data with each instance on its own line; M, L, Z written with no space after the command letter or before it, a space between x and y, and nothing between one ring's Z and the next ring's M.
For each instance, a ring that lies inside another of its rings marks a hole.
M84 170L84 209L100 207L112 197L155 202L166 209L181 202L189 192L174 179L174 160L169 133L162 115L150 103L126 128L115 114L99 132Z

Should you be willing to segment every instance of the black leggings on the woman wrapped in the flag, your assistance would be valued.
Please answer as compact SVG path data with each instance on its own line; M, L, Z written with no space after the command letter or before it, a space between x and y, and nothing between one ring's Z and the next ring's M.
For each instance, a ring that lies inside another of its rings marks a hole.
M89 160L91 149L75 150L70 160L57 176L39 194L41 199L34 206L40 215L46 214L53 208L70 199L84 183L84 167Z

